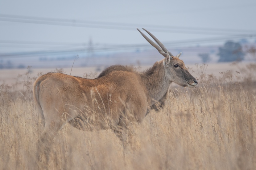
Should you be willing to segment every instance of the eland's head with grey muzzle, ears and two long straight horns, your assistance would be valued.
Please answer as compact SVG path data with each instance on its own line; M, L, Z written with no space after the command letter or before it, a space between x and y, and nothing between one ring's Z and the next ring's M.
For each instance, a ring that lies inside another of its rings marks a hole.
M183 87L196 87L197 80L188 72L188 69L185 67L184 62L179 59L181 53L179 53L177 56L172 55L172 53L169 52L165 48L165 46L149 31L143 28L143 30L145 30L159 46L155 44L155 42L153 42L150 38L148 38L145 34L143 34L138 28L137 30L140 32L140 34L142 34L147 42L154 46L159 51L159 53L165 57L165 59L163 60L163 66L168 81L175 82L176 84Z

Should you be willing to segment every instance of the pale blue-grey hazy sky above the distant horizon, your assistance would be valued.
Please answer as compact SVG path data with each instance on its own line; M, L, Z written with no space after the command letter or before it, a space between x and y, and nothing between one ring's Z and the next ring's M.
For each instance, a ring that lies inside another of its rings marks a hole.
M147 45L137 27L178 46L201 45L193 42L198 39L255 41L255 11L255 0L0 0L0 54L79 49L89 39L135 50Z

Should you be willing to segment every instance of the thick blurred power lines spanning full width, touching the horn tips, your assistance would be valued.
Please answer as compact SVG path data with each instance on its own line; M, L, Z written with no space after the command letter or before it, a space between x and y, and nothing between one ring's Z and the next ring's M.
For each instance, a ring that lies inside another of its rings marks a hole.
M44 25L57 25L57 26L75 26L75 27L87 27L87 28L99 28L99 29L114 29L114 30L135 30L134 27L147 27L153 28L152 31L156 32L175 32L175 33L187 33L187 34L252 34L256 30L242 30L242 29L217 29L217 28L195 28L195 27L180 27L180 26L159 26L148 24L127 24L116 22L96 22L85 21L77 19L60 19L60 18L45 18L45 17L31 17L31 16L18 16L0 14L0 21L7 22L22 22L32 24L44 24Z

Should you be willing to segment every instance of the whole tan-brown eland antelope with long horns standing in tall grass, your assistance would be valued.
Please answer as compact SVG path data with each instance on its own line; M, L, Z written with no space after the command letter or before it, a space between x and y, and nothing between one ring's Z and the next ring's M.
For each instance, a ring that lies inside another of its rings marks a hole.
M82 130L111 128L119 134L118 128L127 128L128 113L133 117L128 121L139 123L151 109L163 107L172 82L189 88L197 85L179 59L181 53L172 55L150 32L145 30L158 45L138 31L164 56L146 71L112 65L95 79L47 73L35 81L34 100L44 122L38 141L41 152L67 122Z

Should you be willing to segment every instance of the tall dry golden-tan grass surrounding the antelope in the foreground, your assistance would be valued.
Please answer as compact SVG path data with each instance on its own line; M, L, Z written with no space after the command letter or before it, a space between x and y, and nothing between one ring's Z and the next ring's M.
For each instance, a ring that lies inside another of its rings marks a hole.
M134 127L127 148L111 130L79 131L65 125L53 144L49 169L255 169L256 65L222 78L198 66L196 89L173 87L166 107ZM244 75L244 74L241 74ZM86 75L87 76L87 75ZM0 87L0 167L36 169L36 141L42 132L31 87Z

